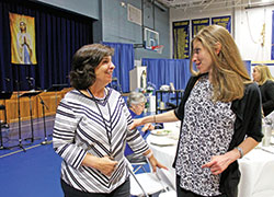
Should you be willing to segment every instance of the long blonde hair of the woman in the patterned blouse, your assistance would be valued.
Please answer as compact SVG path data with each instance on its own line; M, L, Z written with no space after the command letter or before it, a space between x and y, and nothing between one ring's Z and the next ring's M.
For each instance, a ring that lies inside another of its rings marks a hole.
M222 26L210 25L198 32L192 40L192 47L194 40L202 43L213 60L210 76L214 89L213 100L231 102L241 99L244 93L244 83L251 83L251 79L229 32ZM220 44L220 51L217 54L218 44ZM190 69L194 76L199 74L199 72L194 71L192 61Z

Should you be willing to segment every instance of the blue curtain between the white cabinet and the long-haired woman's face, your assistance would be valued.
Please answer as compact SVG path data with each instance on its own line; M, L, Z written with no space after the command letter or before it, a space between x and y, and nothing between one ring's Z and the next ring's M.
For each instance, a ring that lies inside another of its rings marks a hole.
M157 90L170 82L176 90L184 90L191 77L190 59L144 58L141 65L147 66L147 81L156 84Z

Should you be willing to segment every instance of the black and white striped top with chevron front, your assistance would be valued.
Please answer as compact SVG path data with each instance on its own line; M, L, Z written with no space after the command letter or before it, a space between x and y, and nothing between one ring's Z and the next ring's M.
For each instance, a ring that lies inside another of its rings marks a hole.
M127 129L133 120L122 95L113 89L107 90L105 99L96 101L98 106L91 97L72 90L57 108L53 146L64 159L61 178L79 190L111 193L125 182L128 177L124 161L126 141L136 153L149 149L139 131ZM106 128L112 128L111 144ZM114 157L118 161L117 169L111 176L106 176L95 169L81 165L87 152L100 158Z

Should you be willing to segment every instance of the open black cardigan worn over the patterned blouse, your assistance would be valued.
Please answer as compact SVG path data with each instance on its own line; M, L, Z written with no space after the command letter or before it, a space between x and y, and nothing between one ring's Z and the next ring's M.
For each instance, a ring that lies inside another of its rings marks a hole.
M187 82L184 95L182 97L180 106L174 111L175 116L183 121L184 119L184 105L187 101L190 93L202 77L191 77ZM240 144L246 136L253 138L260 142L263 138L262 135L262 109L261 109L261 94L255 83L249 83L246 85L244 95L241 100L236 100L231 104L231 109L236 114L235 134L229 144L228 151ZM182 123L181 123L182 128ZM182 129L180 130L181 138ZM180 141L180 139L179 139ZM179 144L176 149L175 160L173 167L175 166L178 157ZM220 178L220 193L226 194L228 197L237 197L237 187L240 181L239 164L237 161L231 163L222 173Z

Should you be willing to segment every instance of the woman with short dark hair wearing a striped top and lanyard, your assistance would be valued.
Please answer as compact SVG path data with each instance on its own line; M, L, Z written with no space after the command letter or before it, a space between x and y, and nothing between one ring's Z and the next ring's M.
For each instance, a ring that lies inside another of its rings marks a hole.
M106 88L115 66L113 48L101 44L81 47L72 58L70 82L75 90L61 100L56 114L53 144L64 159L61 187L66 197L128 197L129 178L124 157L126 142L155 159L133 123L123 96Z

